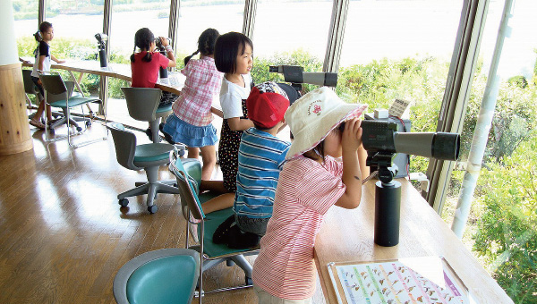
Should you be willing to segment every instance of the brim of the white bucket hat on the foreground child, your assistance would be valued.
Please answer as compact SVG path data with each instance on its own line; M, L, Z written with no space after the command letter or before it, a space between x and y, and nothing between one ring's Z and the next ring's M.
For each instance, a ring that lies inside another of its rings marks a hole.
M301 156L304 152L315 148L341 122L349 118L360 117L366 108L367 105L355 104L338 106L311 128L304 128L300 133L293 134L294 140L287 151L286 159Z

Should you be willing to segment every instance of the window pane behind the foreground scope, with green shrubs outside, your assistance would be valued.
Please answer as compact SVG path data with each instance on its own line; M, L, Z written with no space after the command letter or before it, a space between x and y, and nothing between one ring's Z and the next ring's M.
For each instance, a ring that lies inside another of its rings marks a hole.
M352 1L338 70L345 101L388 109L410 101L412 131L436 131L462 0ZM406 126L407 127L407 126ZM412 156L409 172L427 170ZM399 170L406 172L405 167Z

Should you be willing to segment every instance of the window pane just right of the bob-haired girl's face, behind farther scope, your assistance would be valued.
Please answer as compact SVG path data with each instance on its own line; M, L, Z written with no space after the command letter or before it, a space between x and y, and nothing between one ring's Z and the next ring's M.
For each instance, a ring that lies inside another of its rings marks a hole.
M327 49L333 1L260 0L253 30L256 82L279 79L268 65L303 66L321 72Z

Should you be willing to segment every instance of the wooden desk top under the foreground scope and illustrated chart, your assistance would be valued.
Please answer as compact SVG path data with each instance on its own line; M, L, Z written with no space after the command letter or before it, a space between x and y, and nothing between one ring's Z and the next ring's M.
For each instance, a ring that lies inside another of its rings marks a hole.
M376 262L386 259L443 256L479 303L512 303L472 253L447 227L410 182L402 183L399 244L381 247L373 242L375 182L362 188L360 207L332 207L315 241L315 262L328 303L337 303L328 274L329 262Z

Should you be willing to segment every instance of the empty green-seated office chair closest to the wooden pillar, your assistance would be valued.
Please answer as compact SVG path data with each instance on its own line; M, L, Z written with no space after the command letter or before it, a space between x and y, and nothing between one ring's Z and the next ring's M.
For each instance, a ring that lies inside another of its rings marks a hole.
M64 80L62 79L62 76L57 72L53 72L51 74L39 73L39 79L41 80L43 89L45 89L45 102L50 106L61 108L62 111L64 112L64 117L53 122L50 125L50 129L54 130L54 128L60 124L63 124L63 123L67 124L67 135L61 136L58 138L48 138L47 133L49 131L49 126L46 124L45 139L47 141L57 141L57 140L67 139L69 146L71 146L72 148L78 148L81 146L89 145L90 143L93 143L93 142L97 142L99 140L107 139L108 133L105 137L98 138L98 139L91 139L88 141L84 141L78 145L74 145L71 142L71 137L75 135L79 135L82 132L86 131L88 127L91 125L91 121L89 119L84 119L83 120L84 129L82 130L82 128L79 127L77 122L75 122L74 119L72 118L71 109L75 106L81 106L82 116L85 116L83 106L91 102L100 102L100 99L93 98L93 97L72 97L72 90L74 89L74 82L72 81L64 82ZM107 123L107 115L105 114L105 124L106 123ZM76 127L76 132L71 133L70 131L71 125L74 125Z

